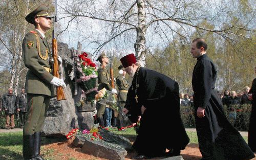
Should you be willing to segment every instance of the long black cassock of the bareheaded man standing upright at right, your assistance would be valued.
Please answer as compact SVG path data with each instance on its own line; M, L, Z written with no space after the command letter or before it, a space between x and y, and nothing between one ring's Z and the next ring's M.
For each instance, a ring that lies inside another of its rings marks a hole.
M206 54L197 58L192 85L195 112L198 107L205 108L205 117L196 116L198 142L203 159L251 159L254 157L251 149L224 115L221 99L214 89L216 78L216 66L212 60Z

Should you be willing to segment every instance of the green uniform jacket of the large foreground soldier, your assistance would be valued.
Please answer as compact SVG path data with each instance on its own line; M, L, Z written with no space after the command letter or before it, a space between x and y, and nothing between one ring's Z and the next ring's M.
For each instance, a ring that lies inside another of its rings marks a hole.
M30 31L23 39L22 48L23 61L29 69L26 76L26 93L52 96L50 82L53 75L44 68L50 68L51 49L48 42L38 31Z

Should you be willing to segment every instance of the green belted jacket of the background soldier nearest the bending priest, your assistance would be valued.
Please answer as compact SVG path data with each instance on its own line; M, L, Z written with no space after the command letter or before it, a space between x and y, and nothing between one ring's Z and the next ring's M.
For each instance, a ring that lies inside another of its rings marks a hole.
M126 97L127 97L127 92L129 89L129 84L128 84L127 80L125 78L123 78L123 76L121 74L119 74L119 76L117 76L116 84L117 84L117 87L119 90L118 100L125 102Z

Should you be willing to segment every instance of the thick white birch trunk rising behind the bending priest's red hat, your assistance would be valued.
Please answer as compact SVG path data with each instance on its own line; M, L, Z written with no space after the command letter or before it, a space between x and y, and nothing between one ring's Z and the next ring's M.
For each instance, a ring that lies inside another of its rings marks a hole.
M146 14L145 14L145 0L137 0L138 7L138 27L137 31L137 39L134 44L136 57L139 60L141 66L145 66L146 62Z

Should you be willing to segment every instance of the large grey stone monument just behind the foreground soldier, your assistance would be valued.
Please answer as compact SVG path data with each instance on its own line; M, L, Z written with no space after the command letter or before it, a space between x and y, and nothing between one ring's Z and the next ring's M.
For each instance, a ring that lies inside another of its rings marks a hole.
M68 44L58 43L58 54L62 57L62 76L67 85L63 90L67 100L51 99L42 129L42 135L45 136L65 136L73 128L91 129L94 125L92 111L95 110L93 108L95 106L90 103L89 109L84 108L80 112L75 105L81 100L82 93L79 86L75 84L74 56L76 56L76 51L68 49Z

